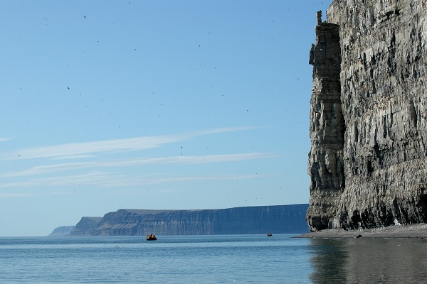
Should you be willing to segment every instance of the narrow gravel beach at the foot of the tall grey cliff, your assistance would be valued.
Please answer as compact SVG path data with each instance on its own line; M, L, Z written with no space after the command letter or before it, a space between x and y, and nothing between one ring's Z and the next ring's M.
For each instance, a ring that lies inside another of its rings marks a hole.
M427 239L427 224L391 225L374 229L324 229L295 238Z

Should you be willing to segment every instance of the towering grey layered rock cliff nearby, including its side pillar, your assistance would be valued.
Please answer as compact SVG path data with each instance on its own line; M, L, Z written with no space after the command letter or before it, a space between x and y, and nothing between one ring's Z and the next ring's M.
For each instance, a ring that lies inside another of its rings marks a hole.
M336 0L316 27L312 231L427 221L427 1Z

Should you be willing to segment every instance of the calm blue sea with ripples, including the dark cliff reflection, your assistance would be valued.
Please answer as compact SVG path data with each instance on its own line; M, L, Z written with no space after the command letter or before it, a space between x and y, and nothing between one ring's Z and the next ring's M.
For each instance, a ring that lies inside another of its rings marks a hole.
M0 238L0 283L427 283L424 239Z

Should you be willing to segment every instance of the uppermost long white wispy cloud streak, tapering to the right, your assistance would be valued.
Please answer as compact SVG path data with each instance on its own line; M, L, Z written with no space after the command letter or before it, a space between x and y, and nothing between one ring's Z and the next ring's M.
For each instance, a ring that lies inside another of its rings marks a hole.
M195 136L231 131L254 129L254 127L228 127L220 129L205 129L187 133L178 133L164 136L147 136L137 138L124 138L105 141L91 141L83 143L66 143L53 146L35 148L23 148L11 153L0 155L2 160L14 160L17 158L68 158L70 156L89 155L90 153L139 151L149 148L157 148L166 143L174 143L189 140Z

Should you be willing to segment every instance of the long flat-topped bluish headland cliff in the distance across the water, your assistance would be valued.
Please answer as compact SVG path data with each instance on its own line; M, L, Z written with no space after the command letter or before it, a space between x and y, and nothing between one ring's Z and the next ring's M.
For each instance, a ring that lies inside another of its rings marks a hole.
M308 204L204 210L120 209L83 217L72 236L279 234L307 232Z

